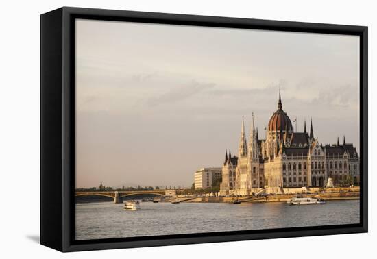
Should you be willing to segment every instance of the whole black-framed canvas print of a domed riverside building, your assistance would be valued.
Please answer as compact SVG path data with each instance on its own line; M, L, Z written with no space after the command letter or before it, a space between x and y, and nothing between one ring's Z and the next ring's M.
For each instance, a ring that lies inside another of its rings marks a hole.
M367 232L367 27L41 15L41 243Z

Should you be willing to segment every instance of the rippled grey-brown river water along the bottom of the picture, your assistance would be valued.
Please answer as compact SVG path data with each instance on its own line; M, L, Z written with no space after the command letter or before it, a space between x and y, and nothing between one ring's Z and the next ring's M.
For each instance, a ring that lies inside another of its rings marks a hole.
M142 202L76 204L76 240L359 223L358 200L324 205Z

